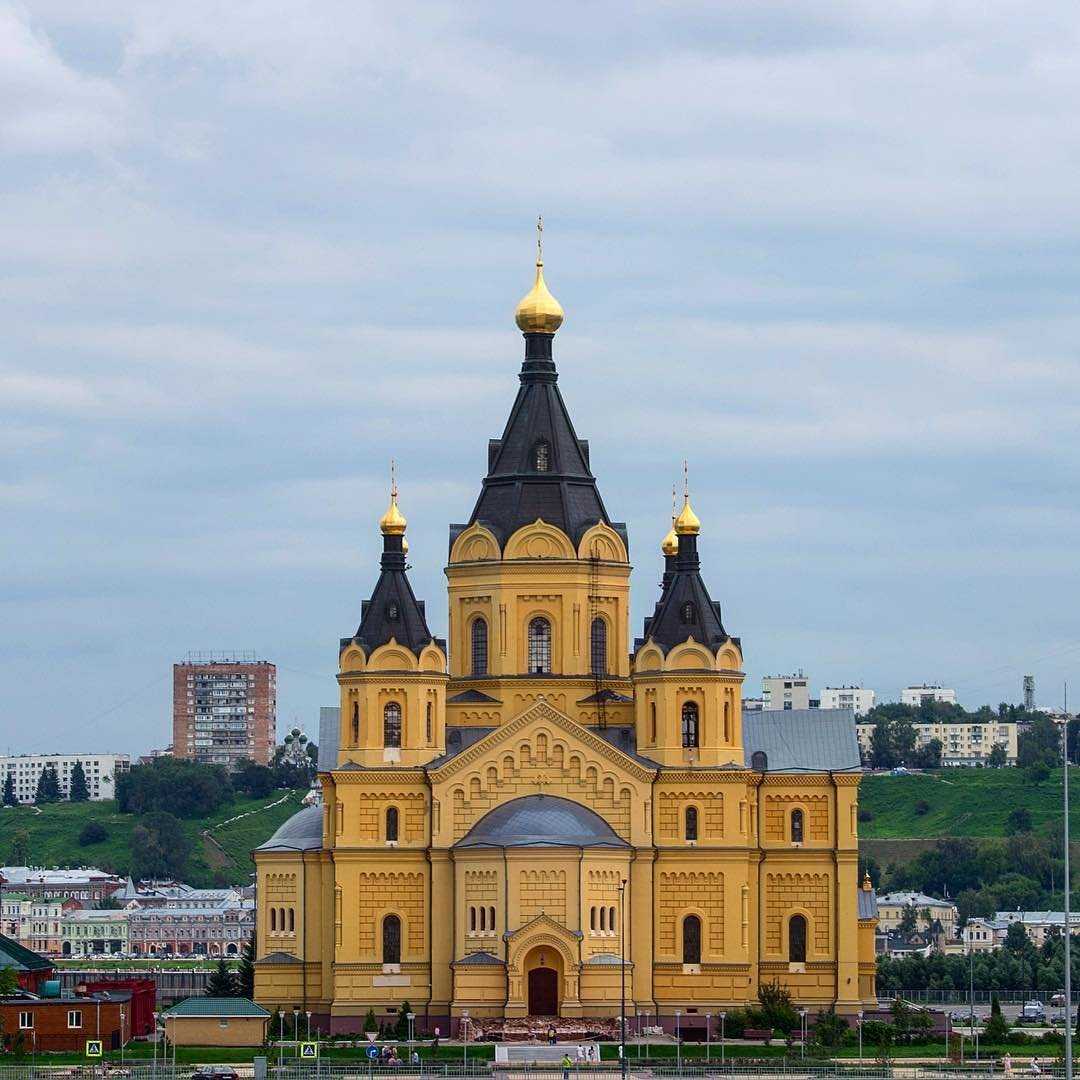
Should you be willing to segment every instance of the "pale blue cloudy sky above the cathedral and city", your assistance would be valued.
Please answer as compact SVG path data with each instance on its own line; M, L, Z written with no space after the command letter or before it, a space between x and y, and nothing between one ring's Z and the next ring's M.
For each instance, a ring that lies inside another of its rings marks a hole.
M635 627L685 456L747 691L1080 694L1080 9L1032 14L0 0L4 745L165 744L191 649L313 731L391 456L445 632L538 213Z

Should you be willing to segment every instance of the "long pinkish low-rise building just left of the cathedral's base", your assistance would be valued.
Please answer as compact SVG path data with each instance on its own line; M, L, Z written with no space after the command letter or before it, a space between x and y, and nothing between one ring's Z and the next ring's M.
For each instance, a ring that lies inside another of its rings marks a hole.
M255 930L249 901L126 913L132 956L239 956Z

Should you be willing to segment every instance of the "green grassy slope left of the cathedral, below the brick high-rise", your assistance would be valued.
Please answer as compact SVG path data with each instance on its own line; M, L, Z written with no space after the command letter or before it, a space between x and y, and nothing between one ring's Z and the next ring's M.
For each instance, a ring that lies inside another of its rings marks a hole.
M201 887L246 881L254 869L252 848L296 813L301 797L301 792L275 792L261 799L237 798L206 818L181 821L192 841L187 880ZM225 824L240 814L247 816ZM90 821L104 825L109 836L102 843L83 848L79 846L79 833ZM131 834L137 824L138 818L119 813L114 801L56 802L40 810L4 807L0 810L0 864L10 859L15 833L26 829L35 865L99 866L126 874Z

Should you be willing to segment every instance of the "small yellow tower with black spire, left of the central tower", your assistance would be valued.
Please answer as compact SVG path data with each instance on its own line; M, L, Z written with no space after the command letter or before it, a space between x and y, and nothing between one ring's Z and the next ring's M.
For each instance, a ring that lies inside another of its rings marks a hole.
M382 559L360 626L341 640L338 766L427 765L446 750L446 643L428 629L406 573L406 521L391 483Z

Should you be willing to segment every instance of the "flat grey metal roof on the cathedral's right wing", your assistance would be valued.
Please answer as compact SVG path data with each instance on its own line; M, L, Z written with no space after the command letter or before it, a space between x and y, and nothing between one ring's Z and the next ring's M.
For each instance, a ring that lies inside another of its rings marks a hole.
M792 708L743 713L748 767L764 751L767 772L848 772L862 768L850 708Z

